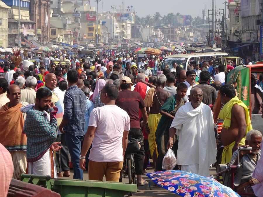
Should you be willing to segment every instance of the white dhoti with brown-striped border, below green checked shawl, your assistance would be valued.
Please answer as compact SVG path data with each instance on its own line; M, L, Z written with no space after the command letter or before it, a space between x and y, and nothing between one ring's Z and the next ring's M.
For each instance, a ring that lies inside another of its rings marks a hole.
M56 163L50 149L38 161L28 162L27 165L27 174L49 175L51 178L57 178Z

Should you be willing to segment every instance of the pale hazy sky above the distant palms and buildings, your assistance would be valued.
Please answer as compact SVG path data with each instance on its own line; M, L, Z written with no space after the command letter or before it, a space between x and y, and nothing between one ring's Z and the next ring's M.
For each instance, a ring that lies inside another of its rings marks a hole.
M225 0L215 0L217 9L225 9ZM121 0L101 0L98 3L98 12L102 10L103 2L103 11L111 11L111 6L116 6L119 9L119 6L122 5ZM90 1L90 5L97 9L97 3L95 0ZM166 15L167 13L173 12L176 14L179 12L181 15L191 15L195 17L199 15L202 17L202 10L212 10L212 0L124 0L124 8L127 9L128 6L133 6L137 15L139 17L145 17L146 15L154 15L155 12L160 12L160 14ZM226 7L226 13L227 7ZM207 11L208 14L208 11Z

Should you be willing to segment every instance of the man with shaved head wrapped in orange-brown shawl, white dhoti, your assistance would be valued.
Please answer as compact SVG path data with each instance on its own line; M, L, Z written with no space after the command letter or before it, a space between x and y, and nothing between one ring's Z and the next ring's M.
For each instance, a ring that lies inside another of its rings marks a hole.
M26 172L27 137L23 134L26 115L20 111L27 102L20 102L21 90L17 85L6 89L9 102L0 109L0 143L10 152L14 165L13 178L20 179Z

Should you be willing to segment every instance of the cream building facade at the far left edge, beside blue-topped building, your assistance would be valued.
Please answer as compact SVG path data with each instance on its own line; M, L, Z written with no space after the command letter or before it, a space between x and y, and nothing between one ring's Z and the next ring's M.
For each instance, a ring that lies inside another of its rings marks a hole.
M3 1L0 1L0 47L8 47L8 9Z

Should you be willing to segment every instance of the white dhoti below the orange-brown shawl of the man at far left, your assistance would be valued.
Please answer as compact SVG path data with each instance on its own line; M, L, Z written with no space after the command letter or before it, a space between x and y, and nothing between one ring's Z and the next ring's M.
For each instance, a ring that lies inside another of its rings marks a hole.
M13 179L20 180L20 175L26 173L27 157L26 151L9 151L14 165Z

